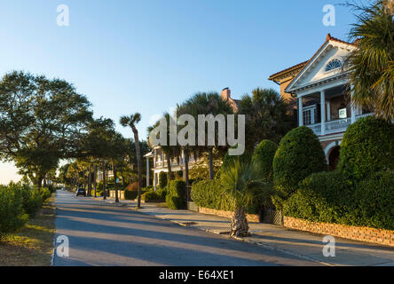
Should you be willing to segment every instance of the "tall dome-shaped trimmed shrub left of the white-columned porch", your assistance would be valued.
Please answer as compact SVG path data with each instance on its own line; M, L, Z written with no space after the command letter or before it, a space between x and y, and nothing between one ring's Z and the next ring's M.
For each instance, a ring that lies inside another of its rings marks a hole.
M305 177L326 170L326 155L319 138L306 126L296 128L282 138L273 159L275 189L287 199Z

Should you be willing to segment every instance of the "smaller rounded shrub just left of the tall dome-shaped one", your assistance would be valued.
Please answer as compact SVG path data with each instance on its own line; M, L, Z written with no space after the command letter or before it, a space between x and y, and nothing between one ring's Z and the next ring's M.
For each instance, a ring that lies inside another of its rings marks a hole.
M271 140L263 140L257 147L252 156L252 162L256 163L261 177L265 180L272 180L273 177L273 157L275 156L278 146Z

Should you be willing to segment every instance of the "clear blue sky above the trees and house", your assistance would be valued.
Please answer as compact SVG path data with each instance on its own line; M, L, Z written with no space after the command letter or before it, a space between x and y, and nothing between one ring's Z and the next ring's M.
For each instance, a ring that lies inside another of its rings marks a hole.
M0 0L0 75L25 70L74 83L96 117L153 118L197 91L230 87L239 99L279 86L269 75L310 59L327 33L346 40L354 21L343 0ZM67 4L70 26L57 25ZM130 137L129 129L117 129ZM0 183L18 180L0 163Z

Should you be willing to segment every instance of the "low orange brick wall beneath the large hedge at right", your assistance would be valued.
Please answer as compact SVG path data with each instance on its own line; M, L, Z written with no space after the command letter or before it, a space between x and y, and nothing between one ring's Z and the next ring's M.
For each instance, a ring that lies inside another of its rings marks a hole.
M311 221L284 217L284 225L290 229L331 235L354 241L366 241L394 247L394 231L379 230L368 227L315 223Z

